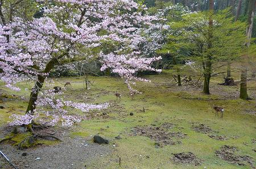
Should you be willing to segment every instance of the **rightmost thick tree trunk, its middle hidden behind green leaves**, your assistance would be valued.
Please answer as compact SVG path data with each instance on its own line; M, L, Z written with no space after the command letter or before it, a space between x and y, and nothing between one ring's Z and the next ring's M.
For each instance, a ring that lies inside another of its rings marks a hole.
M255 0L250 0L249 1L249 11L248 11L248 20L247 20L248 26L246 28L247 42L245 45L247 48L250 47L251 33L253 32L254 10L255 10ZM240 98L248 99L248 95L247 95L247 64L246 64L245 60L242 61Z

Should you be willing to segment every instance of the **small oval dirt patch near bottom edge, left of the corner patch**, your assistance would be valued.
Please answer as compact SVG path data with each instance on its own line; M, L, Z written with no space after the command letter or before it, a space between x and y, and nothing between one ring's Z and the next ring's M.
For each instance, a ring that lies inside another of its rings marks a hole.
M191 152L174 154L172 160L174 163L193 164L195 166L200 166L201 163L203 163L203 160L196 157L196 155Z

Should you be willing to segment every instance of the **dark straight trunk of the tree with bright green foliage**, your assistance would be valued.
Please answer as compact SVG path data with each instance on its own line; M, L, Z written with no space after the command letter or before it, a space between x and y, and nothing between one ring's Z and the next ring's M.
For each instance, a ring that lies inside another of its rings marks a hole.
M212 48L212 39L213 39L213 14L214 14L214 0L209 0L209 31L208 31L208 50ZM204 93L210 94L210 75L212 73L212 53L208 53L208 56L205 61L204 69Z

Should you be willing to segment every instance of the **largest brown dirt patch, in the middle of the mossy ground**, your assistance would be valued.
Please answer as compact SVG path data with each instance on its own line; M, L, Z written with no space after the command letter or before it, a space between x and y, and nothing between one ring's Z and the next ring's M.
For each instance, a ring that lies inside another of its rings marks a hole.
M156 141L156 145L175 145L181 143L174 141L172 138L184 138L186 134L181 132L168 132L168 129L173 128L174 124L165 122L161 126L137 126L133 131L133 135L146 136Z

